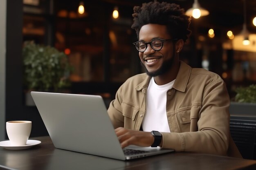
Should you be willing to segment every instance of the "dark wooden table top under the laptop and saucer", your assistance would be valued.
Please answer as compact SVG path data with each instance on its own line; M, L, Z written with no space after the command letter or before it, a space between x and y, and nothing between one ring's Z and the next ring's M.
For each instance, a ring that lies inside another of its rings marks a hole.
M0 170L256 170L256 161L192 152L172 152L119 161L54 148L47 137L25 150L0 148Z

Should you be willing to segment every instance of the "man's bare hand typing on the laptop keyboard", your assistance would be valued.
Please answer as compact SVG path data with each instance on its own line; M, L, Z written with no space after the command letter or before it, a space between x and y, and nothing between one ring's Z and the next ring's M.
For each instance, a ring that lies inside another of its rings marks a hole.
M151 146L155 140L151 132L130 130L122 127L116 128L115 132L122 148L129 145Z

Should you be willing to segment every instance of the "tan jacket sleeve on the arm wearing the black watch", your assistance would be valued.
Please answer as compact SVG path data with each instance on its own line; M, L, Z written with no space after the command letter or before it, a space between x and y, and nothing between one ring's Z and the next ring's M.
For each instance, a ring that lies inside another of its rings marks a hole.
M204 88L198 131L162 132L162 148L226 155L229 145L229 95L222 79Z

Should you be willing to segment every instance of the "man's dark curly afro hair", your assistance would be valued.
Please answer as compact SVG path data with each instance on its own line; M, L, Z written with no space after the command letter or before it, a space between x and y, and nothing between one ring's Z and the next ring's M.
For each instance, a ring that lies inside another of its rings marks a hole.
M191 17L185 15L184 9L177 4L155 0L142 4L142 7L135 6L133 11L132 29L135 29L138 39L141 27L146 24L166 25L172 38L182 39L184 42L189 38Z

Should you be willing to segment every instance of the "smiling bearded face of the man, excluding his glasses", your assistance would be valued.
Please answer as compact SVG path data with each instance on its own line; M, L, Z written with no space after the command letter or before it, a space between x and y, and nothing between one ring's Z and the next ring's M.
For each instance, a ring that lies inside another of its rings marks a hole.
M139 31L139 40L150 42L154 38L171 39L165 25L146 24ZM150 44L144 52L139 52L141 64L146 68L147 74L150 76L158 76L171 70L174 59L174 42L165 41L163 47L159 51L152 49Z

